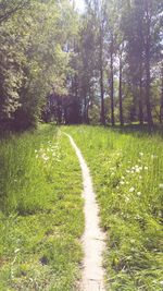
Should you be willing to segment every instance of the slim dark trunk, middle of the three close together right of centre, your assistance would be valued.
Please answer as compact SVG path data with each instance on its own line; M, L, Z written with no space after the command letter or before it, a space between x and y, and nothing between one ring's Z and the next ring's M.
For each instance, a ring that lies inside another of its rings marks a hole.
M115 125L115 120L114 120L114 69L113 69L113 50L114 50L114 45L113 45L113 36L111 40L111 123L112 126Z

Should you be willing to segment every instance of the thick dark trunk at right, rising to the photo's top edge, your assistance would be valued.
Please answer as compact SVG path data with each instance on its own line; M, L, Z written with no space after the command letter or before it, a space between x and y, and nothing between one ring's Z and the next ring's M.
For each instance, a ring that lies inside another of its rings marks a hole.
M151 87L151 72L150 72L150 15L149 15L149 3L146 0L146 12L147 12L147 32L146 32L146 106L147 106L147 117L149 130L153 126L152 111L151 111L151 100L150 100L150 87Z

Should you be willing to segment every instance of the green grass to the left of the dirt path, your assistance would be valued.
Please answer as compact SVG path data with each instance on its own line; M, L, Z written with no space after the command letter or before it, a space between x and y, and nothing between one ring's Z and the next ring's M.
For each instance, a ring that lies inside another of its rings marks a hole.
M84 214L67 137L43 125L2 140L0 185L0 290L75 290Z

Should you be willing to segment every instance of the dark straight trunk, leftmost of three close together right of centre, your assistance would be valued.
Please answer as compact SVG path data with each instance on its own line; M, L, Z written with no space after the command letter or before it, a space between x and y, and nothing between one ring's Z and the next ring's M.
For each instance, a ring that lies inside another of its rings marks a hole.
M100 90L101 90L101 124L105 125L104 88L103 88L103 27L100 27Z

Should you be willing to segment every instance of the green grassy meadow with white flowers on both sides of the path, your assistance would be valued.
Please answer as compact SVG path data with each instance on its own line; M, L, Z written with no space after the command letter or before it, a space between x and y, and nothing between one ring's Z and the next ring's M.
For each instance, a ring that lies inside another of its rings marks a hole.
M62 131L91 171L106 290L162 291L163 137L84 125L42 125L0 141L0 290L78 290L82 173Z

